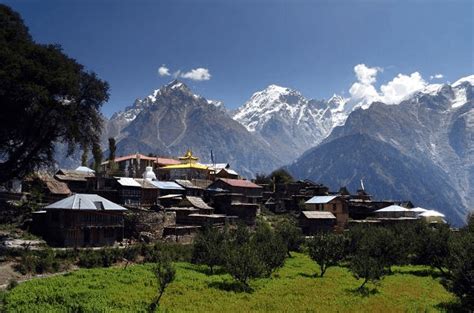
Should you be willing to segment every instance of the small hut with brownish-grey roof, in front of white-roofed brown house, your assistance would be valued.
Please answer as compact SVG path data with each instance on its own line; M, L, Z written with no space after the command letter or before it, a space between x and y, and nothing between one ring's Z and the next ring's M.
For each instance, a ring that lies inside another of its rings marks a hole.
M336 217L327 211L302 211L299 225L304 235L330 232L336 225Z

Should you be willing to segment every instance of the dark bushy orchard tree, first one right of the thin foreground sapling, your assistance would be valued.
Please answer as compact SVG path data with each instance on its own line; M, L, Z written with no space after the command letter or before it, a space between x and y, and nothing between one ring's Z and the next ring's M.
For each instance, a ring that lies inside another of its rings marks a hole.
M194 240L192 263L209 266L211 274L216 266L225 263L225 232L212 225L204 225Z

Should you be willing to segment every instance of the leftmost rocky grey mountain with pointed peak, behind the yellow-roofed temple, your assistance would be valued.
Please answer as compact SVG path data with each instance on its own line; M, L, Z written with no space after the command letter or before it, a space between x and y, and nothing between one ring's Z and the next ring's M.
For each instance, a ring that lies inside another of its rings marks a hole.
M179 81L114 114L105 129L104 138L116 138L118 154L179 156L191 148L202 162L210 162L212 150L216 162L229 162L248 177L283 164L273 148L233 120L222 103L193 94Z

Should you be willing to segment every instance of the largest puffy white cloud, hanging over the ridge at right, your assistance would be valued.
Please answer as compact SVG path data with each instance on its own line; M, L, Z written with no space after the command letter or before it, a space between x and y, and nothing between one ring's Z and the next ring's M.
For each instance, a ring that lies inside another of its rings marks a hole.
M414 72L410 75L398 74L377 90L374 84L377 81L377 74L382 71L380 67L368 67L365 64L354 66L357 81L349 89L349 103L352 106L367 108L375 101L398 104L427 85L420 73Z

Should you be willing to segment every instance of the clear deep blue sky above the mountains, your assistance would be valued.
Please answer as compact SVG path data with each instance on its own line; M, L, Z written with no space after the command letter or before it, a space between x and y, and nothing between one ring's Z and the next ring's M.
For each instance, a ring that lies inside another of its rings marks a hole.
M62 45L110 83L106 116L170 81L158 74L163 64L170 73L207 69L209 80L183 81L229 108L269 84L308 98L348 96L361 80L357 64L376 69L376 79L369 73L375 88L399 73L418 72L430 83L474 73L468 0L3 3L22 15L36 41ZM430 80L435 74L443 77Z

